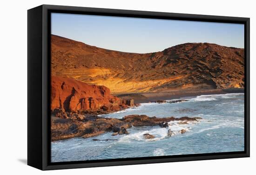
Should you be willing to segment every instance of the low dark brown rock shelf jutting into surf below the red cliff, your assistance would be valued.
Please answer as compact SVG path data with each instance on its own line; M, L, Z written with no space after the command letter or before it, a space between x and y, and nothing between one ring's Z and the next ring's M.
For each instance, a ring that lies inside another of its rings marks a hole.
M156 118L147 115L128 115L123 119L101 118L97 116L84 116L82 121L79 119L61 119L52 117L51 133L52 141L67 139L72 137L94 137L105 132L113 132L113 136L118 134L128 134L127 129L132 126L158 126L168 125L174 120L197 121L195 118ZM201 118L200 118L201 119ZM184 133L184 131L180 131Z

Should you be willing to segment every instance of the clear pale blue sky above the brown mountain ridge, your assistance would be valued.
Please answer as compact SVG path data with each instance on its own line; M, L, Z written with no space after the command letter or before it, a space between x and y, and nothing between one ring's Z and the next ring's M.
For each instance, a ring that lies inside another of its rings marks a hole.
M52 34L134 53L162 51L183 43L244 48L242 24L52 13Z

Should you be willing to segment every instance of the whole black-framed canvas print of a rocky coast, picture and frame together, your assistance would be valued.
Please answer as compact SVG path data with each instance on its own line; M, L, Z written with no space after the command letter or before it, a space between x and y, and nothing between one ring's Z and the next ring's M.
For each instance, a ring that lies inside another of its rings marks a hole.
M249 18L28 10L28 165L249 156Z

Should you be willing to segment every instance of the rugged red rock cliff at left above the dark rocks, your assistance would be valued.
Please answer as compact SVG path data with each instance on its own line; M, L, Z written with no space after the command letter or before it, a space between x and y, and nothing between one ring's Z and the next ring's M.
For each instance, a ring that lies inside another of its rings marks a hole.
M130 101L111 95L105 86L89 85L72 78L52 76L51 110L76 111L118 111L126 108Z

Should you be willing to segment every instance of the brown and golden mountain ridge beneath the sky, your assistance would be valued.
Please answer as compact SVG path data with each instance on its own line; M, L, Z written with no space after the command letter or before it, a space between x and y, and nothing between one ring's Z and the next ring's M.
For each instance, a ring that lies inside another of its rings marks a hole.
M244 88L244 49L185 43L139 54L52 35L51 70L52 75L106 86L114 94Z

